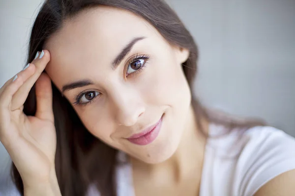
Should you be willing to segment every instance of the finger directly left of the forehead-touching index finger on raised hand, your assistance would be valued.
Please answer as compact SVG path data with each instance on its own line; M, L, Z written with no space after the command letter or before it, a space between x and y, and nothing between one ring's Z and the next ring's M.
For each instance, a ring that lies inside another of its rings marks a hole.
M11 106L10 103L13 95L29 79L29 77L34 73L34 70L34 66L30 69L23 70L5 83L5 85L1 88L0 93L1 109L10 109L9 106Z

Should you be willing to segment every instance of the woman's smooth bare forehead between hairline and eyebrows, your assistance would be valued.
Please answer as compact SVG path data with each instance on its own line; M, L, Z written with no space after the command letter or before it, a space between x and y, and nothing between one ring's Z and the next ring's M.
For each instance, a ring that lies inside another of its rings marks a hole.
M92 66L110 67L126 44L142 36L161 39L152 25L129 11L107 6L84 10L46 43L51 53L46 71L57 85L65 82L62 78L79 79L77 72L90 73Z

